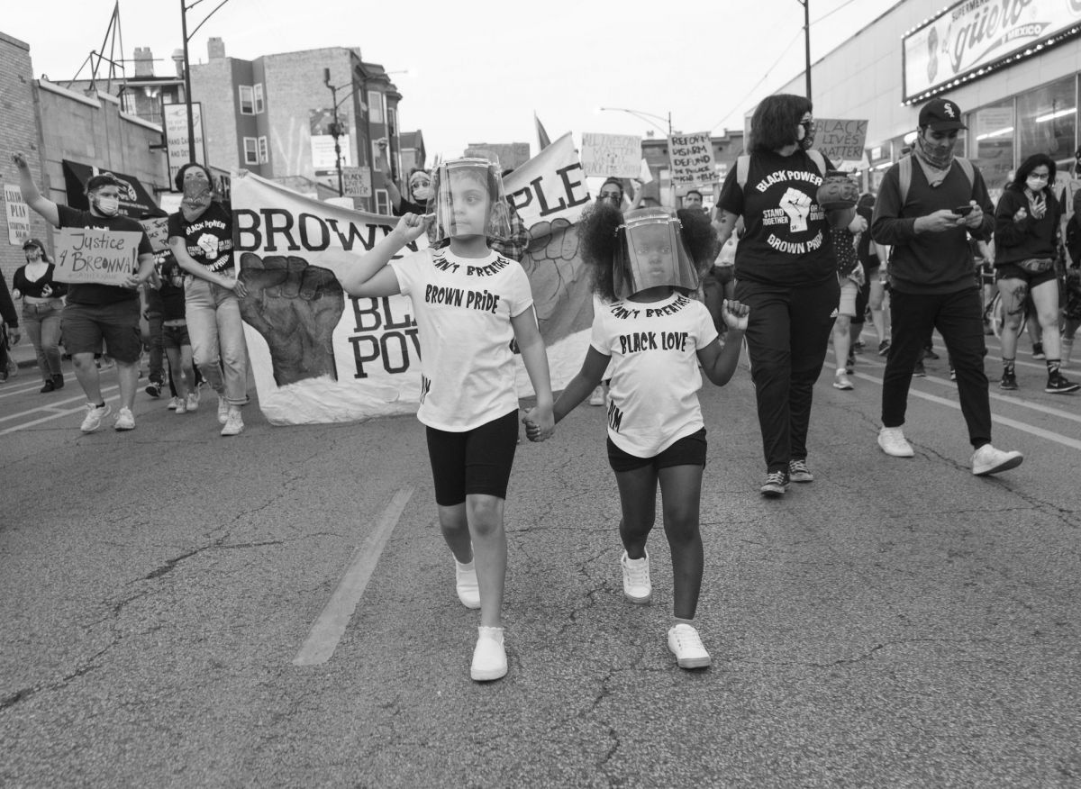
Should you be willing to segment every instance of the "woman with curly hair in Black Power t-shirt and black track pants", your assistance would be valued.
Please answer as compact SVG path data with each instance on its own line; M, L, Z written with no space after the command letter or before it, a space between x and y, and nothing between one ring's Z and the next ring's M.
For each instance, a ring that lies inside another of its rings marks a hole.
M768 96L751 118L750 156L729 172L718 201L718 238L743 217L735 296L750 307L747 349L765 455L763 496L811 482L806 437L811 393L822 372L840 289L830 225L852 209L829 212L817 189L831 164L814 142L811 102Z

